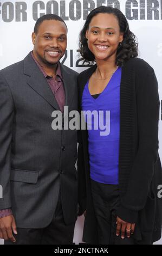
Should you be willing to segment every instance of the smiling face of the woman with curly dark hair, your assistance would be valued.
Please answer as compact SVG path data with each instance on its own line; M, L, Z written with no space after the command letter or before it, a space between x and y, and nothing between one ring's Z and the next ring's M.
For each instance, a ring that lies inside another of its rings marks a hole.
M118 45L123 40L118 20L113 14L100 13L94 16L86 32L88 48L95 60L111 59L115 62Z

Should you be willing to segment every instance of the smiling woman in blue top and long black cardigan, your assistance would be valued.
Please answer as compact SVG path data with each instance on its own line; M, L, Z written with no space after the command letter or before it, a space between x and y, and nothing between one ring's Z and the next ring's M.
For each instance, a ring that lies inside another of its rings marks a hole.
M111 7L94 9L80 33L80 53L95 62L78 77L80 110L102 111L109 127L85 115L78 156L83 241L152 244L161 237L162 184L158 154L159 96L153 69L137 58L126 17ZM107 112L107 114L106 114ZM96 121L96 122L95 122Z

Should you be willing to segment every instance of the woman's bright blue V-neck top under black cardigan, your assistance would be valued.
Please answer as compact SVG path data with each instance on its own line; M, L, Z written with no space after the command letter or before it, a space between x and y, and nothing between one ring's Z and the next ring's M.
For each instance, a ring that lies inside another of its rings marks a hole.
M82 110L95 113L94 116L84 113L88 127L90 178L104 184L119 184L120 82L119 67L96 99L90 95L89 81L82 95Z

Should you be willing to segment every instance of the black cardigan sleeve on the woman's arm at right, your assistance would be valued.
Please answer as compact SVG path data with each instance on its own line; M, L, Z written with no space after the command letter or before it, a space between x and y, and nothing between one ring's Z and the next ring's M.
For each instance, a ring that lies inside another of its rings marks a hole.
M139 70L139 69L138 69ZM117 216L130 223L137 222L138 211L144 209L158 157L159 95L158 82L150 66L136 75L139 145L128 186ZM156 195L155 195L156 196Z

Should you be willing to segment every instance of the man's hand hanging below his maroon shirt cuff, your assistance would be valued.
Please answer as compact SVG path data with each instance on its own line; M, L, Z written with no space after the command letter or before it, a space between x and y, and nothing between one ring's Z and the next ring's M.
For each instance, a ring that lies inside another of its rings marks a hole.
M11 242L16 242L12 231L17 235L16 222L13 215L0 218L0 238L4 240L11 240Z

